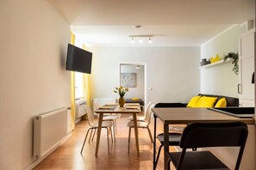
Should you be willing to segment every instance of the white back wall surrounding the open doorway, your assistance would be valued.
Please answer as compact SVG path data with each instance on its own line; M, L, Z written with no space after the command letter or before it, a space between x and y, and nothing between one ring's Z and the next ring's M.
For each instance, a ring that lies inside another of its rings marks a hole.
M148 101L188 102L200 90L199 47L92 47L92 98L118 98L118 64L147 63Z

